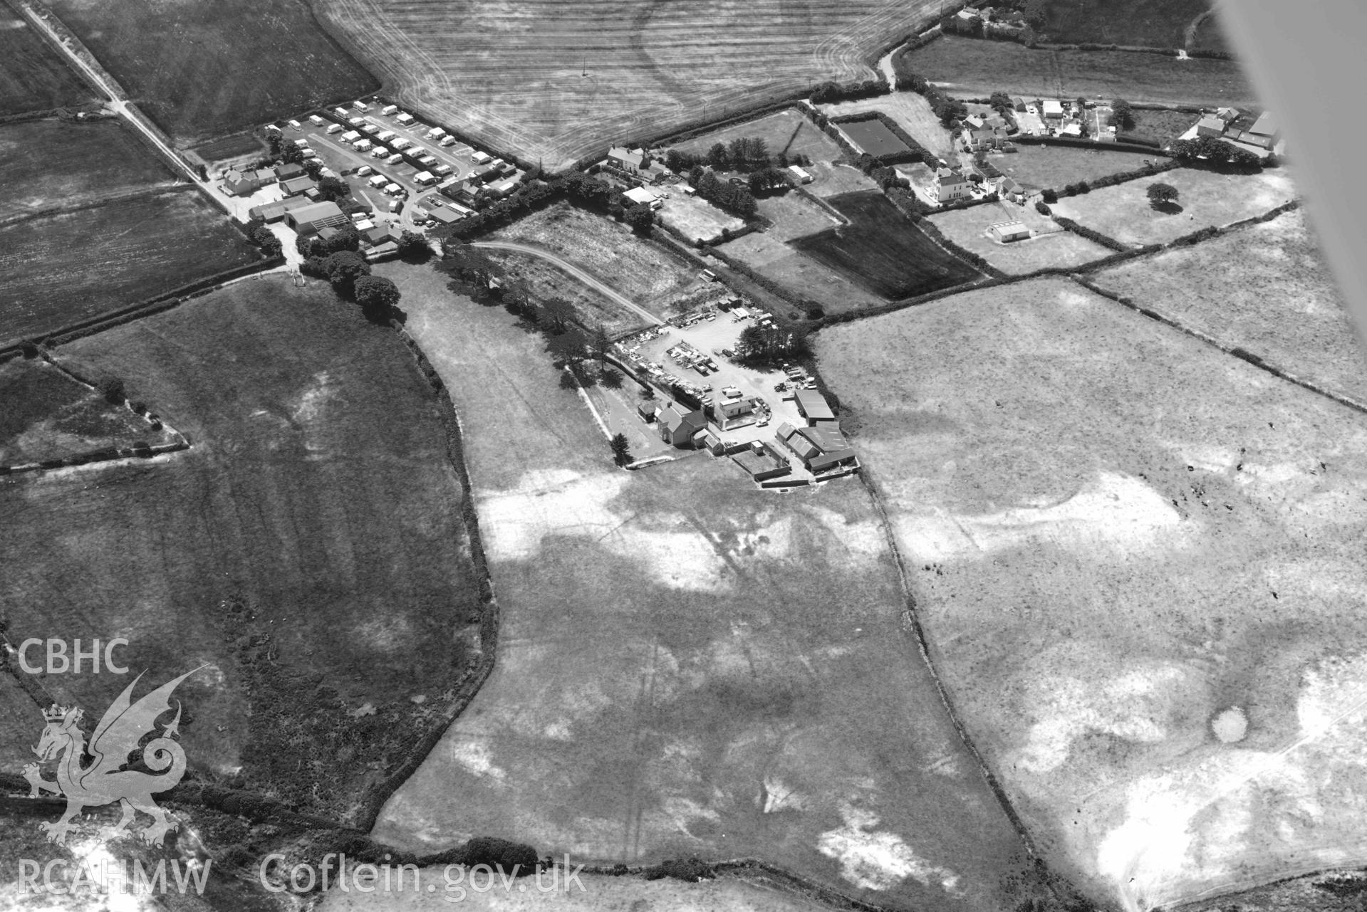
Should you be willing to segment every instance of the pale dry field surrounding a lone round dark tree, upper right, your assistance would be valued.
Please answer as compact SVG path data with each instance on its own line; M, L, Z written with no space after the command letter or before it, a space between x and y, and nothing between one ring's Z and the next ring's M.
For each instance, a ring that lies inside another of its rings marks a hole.
M1165 183L1177 187L1180 209L1156 210L1148 205L1148 187ZM1207 225L1228 225L1275 209L1296 198L1296 187L1285 168L1252 175L1178 168L1102 187L1080 197L1059 198L1051 209L1107 238L1141 247L1162 244Z

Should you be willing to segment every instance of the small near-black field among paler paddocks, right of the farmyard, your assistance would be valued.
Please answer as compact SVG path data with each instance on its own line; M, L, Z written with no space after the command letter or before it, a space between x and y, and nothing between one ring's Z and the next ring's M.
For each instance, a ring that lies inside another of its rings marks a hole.
M923 295L977 277L912 224L883 194L833 197L853 224L793 242L793 247L889 300Z

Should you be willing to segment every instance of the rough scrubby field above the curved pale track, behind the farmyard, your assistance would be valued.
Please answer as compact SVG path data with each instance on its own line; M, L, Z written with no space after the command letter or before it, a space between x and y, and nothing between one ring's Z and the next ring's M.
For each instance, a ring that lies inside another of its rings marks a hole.
M500 228L488 240L515 240L548 250L647 310L664 307L673 296L697 283L697 269L663 247L637 238L619 221L567 202ZM636 314L623 317L630 318L630 325L640 322Z

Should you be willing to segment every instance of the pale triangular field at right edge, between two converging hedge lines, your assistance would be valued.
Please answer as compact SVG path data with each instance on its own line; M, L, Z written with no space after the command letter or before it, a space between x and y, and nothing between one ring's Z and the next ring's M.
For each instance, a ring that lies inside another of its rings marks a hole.
M1367 403L1352 315L1297 209L1193 247L1096 273L1103 288Z

